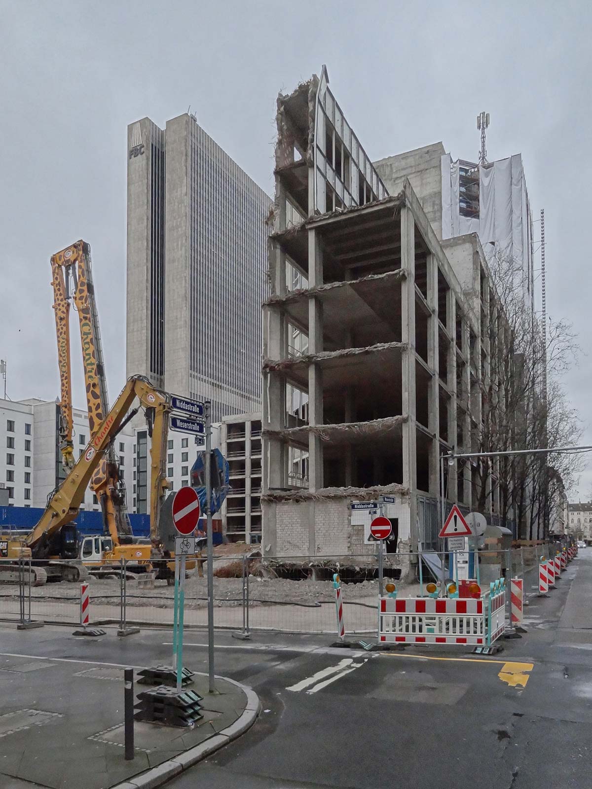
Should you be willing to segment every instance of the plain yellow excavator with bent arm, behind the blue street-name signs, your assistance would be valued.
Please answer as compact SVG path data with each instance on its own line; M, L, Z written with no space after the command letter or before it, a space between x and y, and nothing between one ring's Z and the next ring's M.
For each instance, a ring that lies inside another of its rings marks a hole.
M132 408L134 402L138 405ZM130 410L131 409L131 410ZM0 534L0 554L13 562L0 563L0 582L13 583L19 578L18 559L40 559L32 565L32 585L43 585L48 579L79 581L88 570L78 558L77 529L73 523L84 492L110 455L115 437L144 409L148 433L152 436L150 484L150 539L148 559L158 571L157 577L170 575L170 556L163 552L159 534L159 518L169 483L166 477L167 436L170 417L170 396L152 386L144 376L132 376L119 394L114 406L94 425L93 436L77 460L73 458L66 479L48 499L39 522L24 536ZM133 549L144 546L133 545ZM29 572L25 563L25 574ZM28 582L28 581L27 581Z

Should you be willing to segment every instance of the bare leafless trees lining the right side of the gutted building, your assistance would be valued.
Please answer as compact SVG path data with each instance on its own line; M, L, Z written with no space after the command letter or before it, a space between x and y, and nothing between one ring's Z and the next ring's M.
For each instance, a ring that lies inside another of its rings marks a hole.
M489 363L473 393L481 401L473 451L574 445L581 436L579 418L560 383L578 352L571 324L549 320L543 346L521 264L497 255L489 267L489 323L481 318ZM551 514L581 466L582 458L558 453L483 458L473 472L474 505L483 509L499 493L502 524L514 521L521 537L546 536Z

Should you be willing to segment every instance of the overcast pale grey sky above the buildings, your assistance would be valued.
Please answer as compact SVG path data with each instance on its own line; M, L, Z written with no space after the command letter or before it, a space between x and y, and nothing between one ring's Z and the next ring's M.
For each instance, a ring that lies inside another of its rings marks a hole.
M92 245L111 398L124 383L129 122L148 115L164 125L191 105L271 194L275 96L322 63L375 160L437 140L454 159L475 159L475 116L489 111L489 159L522 152L534 218L545 208L549 314L571 319L587 350L590 7L0 0L0 357L9 396L58 396L49 258L78 238ZM73 342L74 403L84 407L79 357ZM590 361L567 383L592 444ZM592 463L582 495L591 484Z

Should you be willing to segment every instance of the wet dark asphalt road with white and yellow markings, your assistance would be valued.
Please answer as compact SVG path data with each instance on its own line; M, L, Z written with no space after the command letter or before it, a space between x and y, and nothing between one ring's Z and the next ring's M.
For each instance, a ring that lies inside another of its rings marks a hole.
M491 658L220 634L216 673L256 690L260 720L167 787L589 787L592 548L580 550L558 586L530 600L528 633ZM144 666L166 661L169 641L158 630L119 641L77 640L62 628L2 630L0 653ZM203 633L187 634L184 662L207 670Z

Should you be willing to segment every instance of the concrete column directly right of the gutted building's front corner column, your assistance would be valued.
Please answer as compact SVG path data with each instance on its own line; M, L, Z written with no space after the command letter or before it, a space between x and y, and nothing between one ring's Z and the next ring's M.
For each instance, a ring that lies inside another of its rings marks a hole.
M429 431L435 438L429 450L429 492L440 495L440 398L438 398L438 263L435 255L428 255L428 305L432 310L428 318L428 366L432 373L428 391Z

